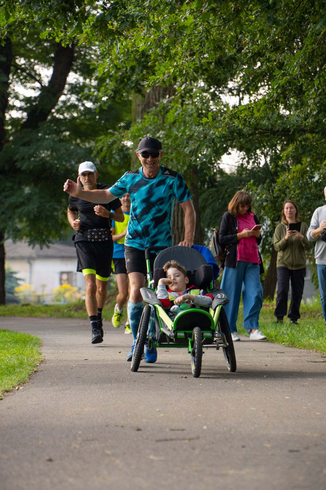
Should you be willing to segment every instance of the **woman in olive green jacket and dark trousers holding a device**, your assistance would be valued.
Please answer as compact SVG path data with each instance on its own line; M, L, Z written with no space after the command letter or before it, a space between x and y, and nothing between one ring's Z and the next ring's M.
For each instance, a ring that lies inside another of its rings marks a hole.
M304 221L300 231L290 230L289 224L300 221L298 206L288 200L283 204L282 222L274 232L274 248L277 251L277 295L274 315L276 323L282 323L287 312L287 296L291 280L291 302L288 317L291 323L298 323L300 303L304 293L306 250L310 248L306 234L308 226Z

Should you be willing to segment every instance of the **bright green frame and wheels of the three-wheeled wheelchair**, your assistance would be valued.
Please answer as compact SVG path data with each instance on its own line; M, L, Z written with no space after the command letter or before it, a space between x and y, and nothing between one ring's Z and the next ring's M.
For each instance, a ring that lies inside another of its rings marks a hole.
M214 297L209 311L192 305L191 308L180 311L173 318L169 316L169 312L163 308L162 303L157 298L154 291L150 254L167 248L171 250L168 259L171 260L174 258L175 249L178 249L178 255L180 255L181 249L188 247L149 247L145 251L148 287L140 290L144 301L144 310L134 345L131 371L138 370L146 344L149 349L152 347L166 348L167 346L169 348L188 347L188 353L191 355L192 373L195 378L200 376L203 349L215 348L219 350L221 348L228 370L234 372L237 369L236 356L229 323L223 309L223 305L227 304L229 300L223 290L213 289L212 281L211 288L207 289L207 292ZM191 250L199 254L196 250ZM189 252L189 248L187 252ZM202 263L206 263L203 257L202 259ZM180 260L179 262L181 263ZM155 321L155 333L151 328L152 321Z

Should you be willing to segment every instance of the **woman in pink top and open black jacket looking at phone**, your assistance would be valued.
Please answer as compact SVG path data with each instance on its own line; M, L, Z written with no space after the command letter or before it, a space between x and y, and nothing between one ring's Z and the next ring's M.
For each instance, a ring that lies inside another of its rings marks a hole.
M265 340L259 330L262 306L260 273L263 272L258 245L260 231L252 231L259 224L251 208L252 199L245 191L238 191L224 213L218 232L221 245L228 245L221 288L229 303L223 308L229 321L233 341L239 341L237 319L242 290L243 328L251 340ZM262 270L261 270L262 268Z

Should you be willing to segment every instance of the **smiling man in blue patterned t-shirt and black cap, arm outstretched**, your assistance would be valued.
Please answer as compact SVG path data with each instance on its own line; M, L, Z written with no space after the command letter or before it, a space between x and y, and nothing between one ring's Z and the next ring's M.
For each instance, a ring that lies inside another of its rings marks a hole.
M106 190L82 190L77 183L67 180L64 191L91 202L110 202L116 197L130 194L131 210L125 240L125 257L130 281L128 316L135 341L143 311L140 288L146 275L145 249L149 246L172 245L172 217L174 200L180 203L185 217L183 246L194 244L196 215L191 193L180 173L160 164L163 156L161 142L152 136L143 138L136 152L141 167L126 172L112 187ZM131 361L134 342L127 361ZM145 362L155 362L156 348L146 350Z

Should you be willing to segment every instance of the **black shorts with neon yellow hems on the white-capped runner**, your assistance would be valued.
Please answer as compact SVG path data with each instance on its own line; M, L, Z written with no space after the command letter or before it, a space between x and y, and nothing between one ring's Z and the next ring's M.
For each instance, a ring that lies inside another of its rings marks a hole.
M77 252L77 271L93 269L101 277L109 277L113 255L113 242L75 242Z

